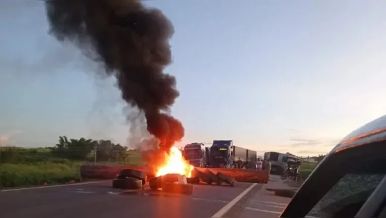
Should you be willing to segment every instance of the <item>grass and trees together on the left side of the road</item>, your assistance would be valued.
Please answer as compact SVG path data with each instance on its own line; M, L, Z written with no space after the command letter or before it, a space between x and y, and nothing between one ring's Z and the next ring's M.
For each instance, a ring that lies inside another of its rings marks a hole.
M85 138L68 140L66 136L60 136L52 148L3 147L0 158L3 188L78 181L82 164L141 164L138 151L126 151L120 144Z

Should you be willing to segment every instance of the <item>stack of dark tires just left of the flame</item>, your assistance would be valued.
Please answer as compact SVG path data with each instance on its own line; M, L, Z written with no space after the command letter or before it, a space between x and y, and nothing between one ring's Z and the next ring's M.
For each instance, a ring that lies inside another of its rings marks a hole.
M135 169L122 169L113 180L113 188L141 189L146 184L146 174Z

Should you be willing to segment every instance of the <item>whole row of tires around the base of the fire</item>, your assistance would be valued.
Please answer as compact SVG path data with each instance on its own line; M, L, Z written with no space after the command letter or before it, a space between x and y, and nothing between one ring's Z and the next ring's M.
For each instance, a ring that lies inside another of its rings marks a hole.
M235 185L235 179L217 172L214 174L210 170L194 169L191 177L186 178L180 174L166 174L148 179L146 174L135 169L123 169L119 172L118 178L113 180L113 188L136 190L150 188L150 190L157 190L167 193L191 195L193 193L192 184L207 184L207 185L221 185L223 183L229 186Z

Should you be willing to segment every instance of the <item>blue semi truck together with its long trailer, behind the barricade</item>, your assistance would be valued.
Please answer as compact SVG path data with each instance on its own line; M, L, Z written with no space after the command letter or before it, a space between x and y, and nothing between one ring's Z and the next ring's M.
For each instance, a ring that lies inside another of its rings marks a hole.
M256 159L256 151L244 149L233 144L233 140L213 140L210 147L210 165L220 168L247 167Z

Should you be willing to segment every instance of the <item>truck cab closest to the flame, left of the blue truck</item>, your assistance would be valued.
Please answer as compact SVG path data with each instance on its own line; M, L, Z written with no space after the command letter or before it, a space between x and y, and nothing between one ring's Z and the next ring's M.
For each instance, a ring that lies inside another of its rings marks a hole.
M204 143L186 144L183 156L193 166L207 167L209 164L209 149L205 147Z

